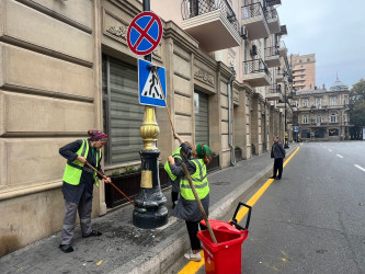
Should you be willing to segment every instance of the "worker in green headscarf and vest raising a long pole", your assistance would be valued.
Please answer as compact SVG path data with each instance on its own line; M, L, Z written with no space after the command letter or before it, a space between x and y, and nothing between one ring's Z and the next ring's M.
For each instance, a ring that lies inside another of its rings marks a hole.
M208 215L209 212L209 184L207 179L206 165L212 161L212 151L205 144L197 144L190 147L184 140L174 134L181 144L182 151L186 155L186 159L183 159L186 164L187 171L192 178L197 195L202 202L205 213ZM175 208L173 209L173 216L185 220L189 238L191 242L192 252L184 254L187 260L201 261L201 241L197 238L197 231L206 229L205 226L201 225L199 221L203 216L199 212L198 205L195 201L192 189L190 187L189 181L184 175L184 171L181 165L176 165L174 158L169 157L169 164L172 174L180 176L180 197Z

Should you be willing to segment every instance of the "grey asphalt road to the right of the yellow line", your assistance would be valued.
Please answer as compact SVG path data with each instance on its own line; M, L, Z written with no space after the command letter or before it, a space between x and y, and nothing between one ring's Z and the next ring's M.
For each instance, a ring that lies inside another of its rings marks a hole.
M306 142L253 206L242 273L365 273L365 142Z

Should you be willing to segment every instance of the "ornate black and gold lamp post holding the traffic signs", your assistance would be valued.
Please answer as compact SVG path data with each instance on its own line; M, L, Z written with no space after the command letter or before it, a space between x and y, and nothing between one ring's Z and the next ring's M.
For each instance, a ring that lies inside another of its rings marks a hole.
M144 11L150 10L150 1L142 1ZM145 60L151 61L151 54ZM139 228L157 228L168 222L167 198L160 187L158 157L160 150L156 147L159 125L156 121L153 106L145 106L145 118L140 127L140 137L144 139L144 149L139 152L141 158L140 193L135 199L133 224Z

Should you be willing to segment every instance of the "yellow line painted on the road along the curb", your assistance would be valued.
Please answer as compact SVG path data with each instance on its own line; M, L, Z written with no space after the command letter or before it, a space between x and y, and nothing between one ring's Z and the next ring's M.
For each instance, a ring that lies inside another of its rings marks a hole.
M298 152L298 150L300 149L300 147L297 147L296 150L290 155L290 157L284 162L284 167L292 160L292 158L296 155L296 152ZM249 206L253 206L259 198L262 196L262 194L265 193L265 191L269 189L269 186L272 184L272 182L274 182L274 179L269 179L263 186L261 186L261 189L249 199L249 202L247 202L247 204ZM237 214L237 221L240 222L243 217L248 214L249 208L247 207L242 207L238 214ZM201 255L202 258L204 258L204 252L203 250L201 251ZM196 273L198 272L198 270L204 265L204 259L202 259L202 261L199 262L189 262L180 272L179 274L191 274L191 273Z

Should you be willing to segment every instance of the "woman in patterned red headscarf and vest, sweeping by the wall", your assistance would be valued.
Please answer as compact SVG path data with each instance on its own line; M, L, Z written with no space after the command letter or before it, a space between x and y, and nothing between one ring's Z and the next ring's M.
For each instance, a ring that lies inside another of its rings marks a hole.
M92 193L93 185L99 186L96 172L85 165L89 162L103 173L100 161L101 148L107 140L107 135L90 129L90 138L72 141L59 149L59 153L67 159L62 193L65 198L65 216L61 230L59 249L65 253L72 252L71 241L73 238L76 215L79 212L82 237L99 237L102 233L91 228ZM109 178L106 183L111 182Z

